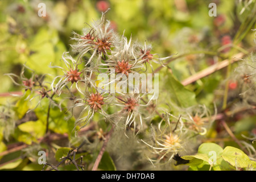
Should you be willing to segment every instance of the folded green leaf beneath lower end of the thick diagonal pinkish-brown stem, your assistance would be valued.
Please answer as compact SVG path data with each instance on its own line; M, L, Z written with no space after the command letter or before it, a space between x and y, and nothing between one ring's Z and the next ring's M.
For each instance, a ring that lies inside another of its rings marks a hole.
M196 94L186 89L172 74L168 73L164 78L159 77L159 79L164 80L164 87L168 90L167 97L170 97L177 106L189 107L197 104Z

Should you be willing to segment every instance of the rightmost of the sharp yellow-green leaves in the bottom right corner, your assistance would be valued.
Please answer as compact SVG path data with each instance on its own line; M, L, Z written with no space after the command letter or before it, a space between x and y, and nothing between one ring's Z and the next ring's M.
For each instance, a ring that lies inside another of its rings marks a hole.
M255 165L243 151L236 147L225 147L222 158L234 167L245 168Z

